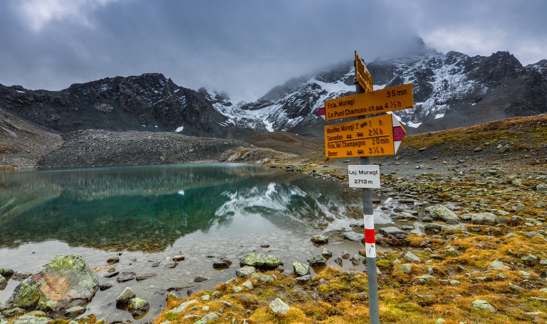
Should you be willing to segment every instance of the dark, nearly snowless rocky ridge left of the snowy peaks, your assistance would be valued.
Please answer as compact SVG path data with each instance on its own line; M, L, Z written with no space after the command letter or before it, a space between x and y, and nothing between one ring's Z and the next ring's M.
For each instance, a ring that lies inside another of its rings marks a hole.
M61 91L0 86L0 108L57 133L185 129L203 135L233 128L202 94L159 73L105 78Z

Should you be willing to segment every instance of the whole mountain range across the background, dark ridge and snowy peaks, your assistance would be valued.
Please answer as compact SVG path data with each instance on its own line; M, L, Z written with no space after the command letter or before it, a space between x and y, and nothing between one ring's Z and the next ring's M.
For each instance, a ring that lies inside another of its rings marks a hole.
M547 111L547 60L528 66L508 52L470 57L429 51L366 63L375 90L411 83L414 109L399 110L409 133L476 125ZM323 137L317 116L326 99L354 93L351 62L293 78L255 102L194 91L159 73L117 76L61 91L0 85L0 109L46 131L82 129L178 132L245 140L257 132ZM330 122L336 123L337 121Z

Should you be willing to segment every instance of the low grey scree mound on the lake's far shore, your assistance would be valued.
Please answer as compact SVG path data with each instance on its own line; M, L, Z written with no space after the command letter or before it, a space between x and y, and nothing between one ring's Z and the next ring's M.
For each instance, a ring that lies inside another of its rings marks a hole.
M39 167L136 166L192 163L251 144L237 140L188 137L177 133L76 131L38 162Z

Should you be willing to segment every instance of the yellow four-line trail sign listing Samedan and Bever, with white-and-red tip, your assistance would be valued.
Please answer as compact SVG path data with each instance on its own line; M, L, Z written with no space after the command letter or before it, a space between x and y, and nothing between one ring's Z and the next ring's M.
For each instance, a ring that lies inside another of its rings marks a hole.
M325 156L394 155L404 133L393 114L325 126Z

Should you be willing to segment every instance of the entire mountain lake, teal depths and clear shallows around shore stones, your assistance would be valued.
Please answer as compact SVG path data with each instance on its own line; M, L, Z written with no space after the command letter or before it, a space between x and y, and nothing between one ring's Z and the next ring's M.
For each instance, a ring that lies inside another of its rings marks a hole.
M132 320L115 308L130 286L150 303L138 322L152 321L165 306L167 288L211 289L235 275L239 259L251 251L306 263L322 251L312 235L328 233L334 257L356 254L363 245L342 238L342 228L362 223L360 195L332 181L276 168L243 164L181 164L31 170L0 173L0 267L33 272L57 254L81 254L93 268L120 255L117 271L153 273L143 281L118 283L97 272L101 284L86 314L108 321ZM352 218L354 217L354 218ZM377 217L377 223L392 223ZM269 248L261 248L261 245ZM176 268L166 268L175 255ZM229 269L212 267L228 257ZM160 263L152 267L153 262ZM344 260L342 269L354 267ZM196 283L203 276L207 281ZM19 282L0 291L6 301ZM188 287L188 288L187 288Z

